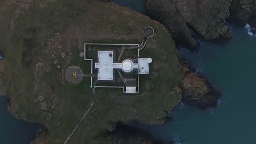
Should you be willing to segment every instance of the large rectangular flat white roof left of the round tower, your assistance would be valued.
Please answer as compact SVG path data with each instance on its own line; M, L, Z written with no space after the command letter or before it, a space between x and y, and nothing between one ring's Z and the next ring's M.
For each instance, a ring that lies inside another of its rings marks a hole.
M98 51L98 63L95 68L98 69L98 80L113 80L113 51Z

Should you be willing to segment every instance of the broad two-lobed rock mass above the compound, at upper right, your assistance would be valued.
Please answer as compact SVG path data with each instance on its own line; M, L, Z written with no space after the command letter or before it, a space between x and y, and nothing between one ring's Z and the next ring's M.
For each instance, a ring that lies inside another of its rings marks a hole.
M199 44L190 28L215 42L231 38L232 32L225 25L229 6L226 0L146 0L149 15L166 26L178 46L191 50L197 50Z

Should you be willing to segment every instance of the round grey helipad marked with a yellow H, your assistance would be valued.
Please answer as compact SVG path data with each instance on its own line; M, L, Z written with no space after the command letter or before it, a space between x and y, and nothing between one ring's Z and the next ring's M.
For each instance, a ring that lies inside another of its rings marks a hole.
M65 70L65 78L71 84L78 84L83 80L83 71L79 67L72 65Z

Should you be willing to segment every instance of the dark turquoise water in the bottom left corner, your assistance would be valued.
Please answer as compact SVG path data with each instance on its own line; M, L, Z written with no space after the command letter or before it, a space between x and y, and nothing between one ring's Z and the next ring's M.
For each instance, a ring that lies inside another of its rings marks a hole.
M0 96L0 143L28 144L39 130L39 124L16 119L5 106L6 97Z

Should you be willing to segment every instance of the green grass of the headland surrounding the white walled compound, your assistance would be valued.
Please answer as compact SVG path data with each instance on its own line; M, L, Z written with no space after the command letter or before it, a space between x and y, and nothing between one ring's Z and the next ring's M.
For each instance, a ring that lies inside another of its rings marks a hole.
M68 82L62 85L61 68L66 65L66 59L57 52L59 45L63 46L61 52L72 53L71 65L78 65L84 73L90 73L91 63L79 57L80 47L83 48L79 41L82 44L139 44L144 38L144 27L152 26L156 32L141 51L141 57L152 57L153 63L150 75L140 76L140 93L124 94L121 88L96 88L95 106L69 143L91 143L117 121L135 119L142 123L158 123L158 119L166 116L165 111L170 111L181 100L181 93L173 88L178 86L183 71L175 55L173 40L164 26L113 4L63 0L49 2L45 8L40 8L39 3L34 2L24 15L19 15L13 33L0 28L0 38L3 38L0 46L8 47L2 49L6 68L0 76L7 83L4 89L13 99L20 117L42 123L49 129L49 143L63 143L92 100L90 77L84 77L78 85ZM10 8L10 15L13 9ZM53 46L52 50L57 52L53 58L45 50L50 47L49 39L58 40L53 37L56 32L60 32L63 39ZM27 68L21 65L22 51L27 49L23 43L25 37L32 38L35 43L30 51L33 62ZM40 59L44 67L39 68L40 73L35 77ZM55 59L59 60L61 68L53 64ZM47 67L49 71L45 70ZM37 100L42 92L47 110L40 109L42 101ZM55 108L51 109L53 105Z

